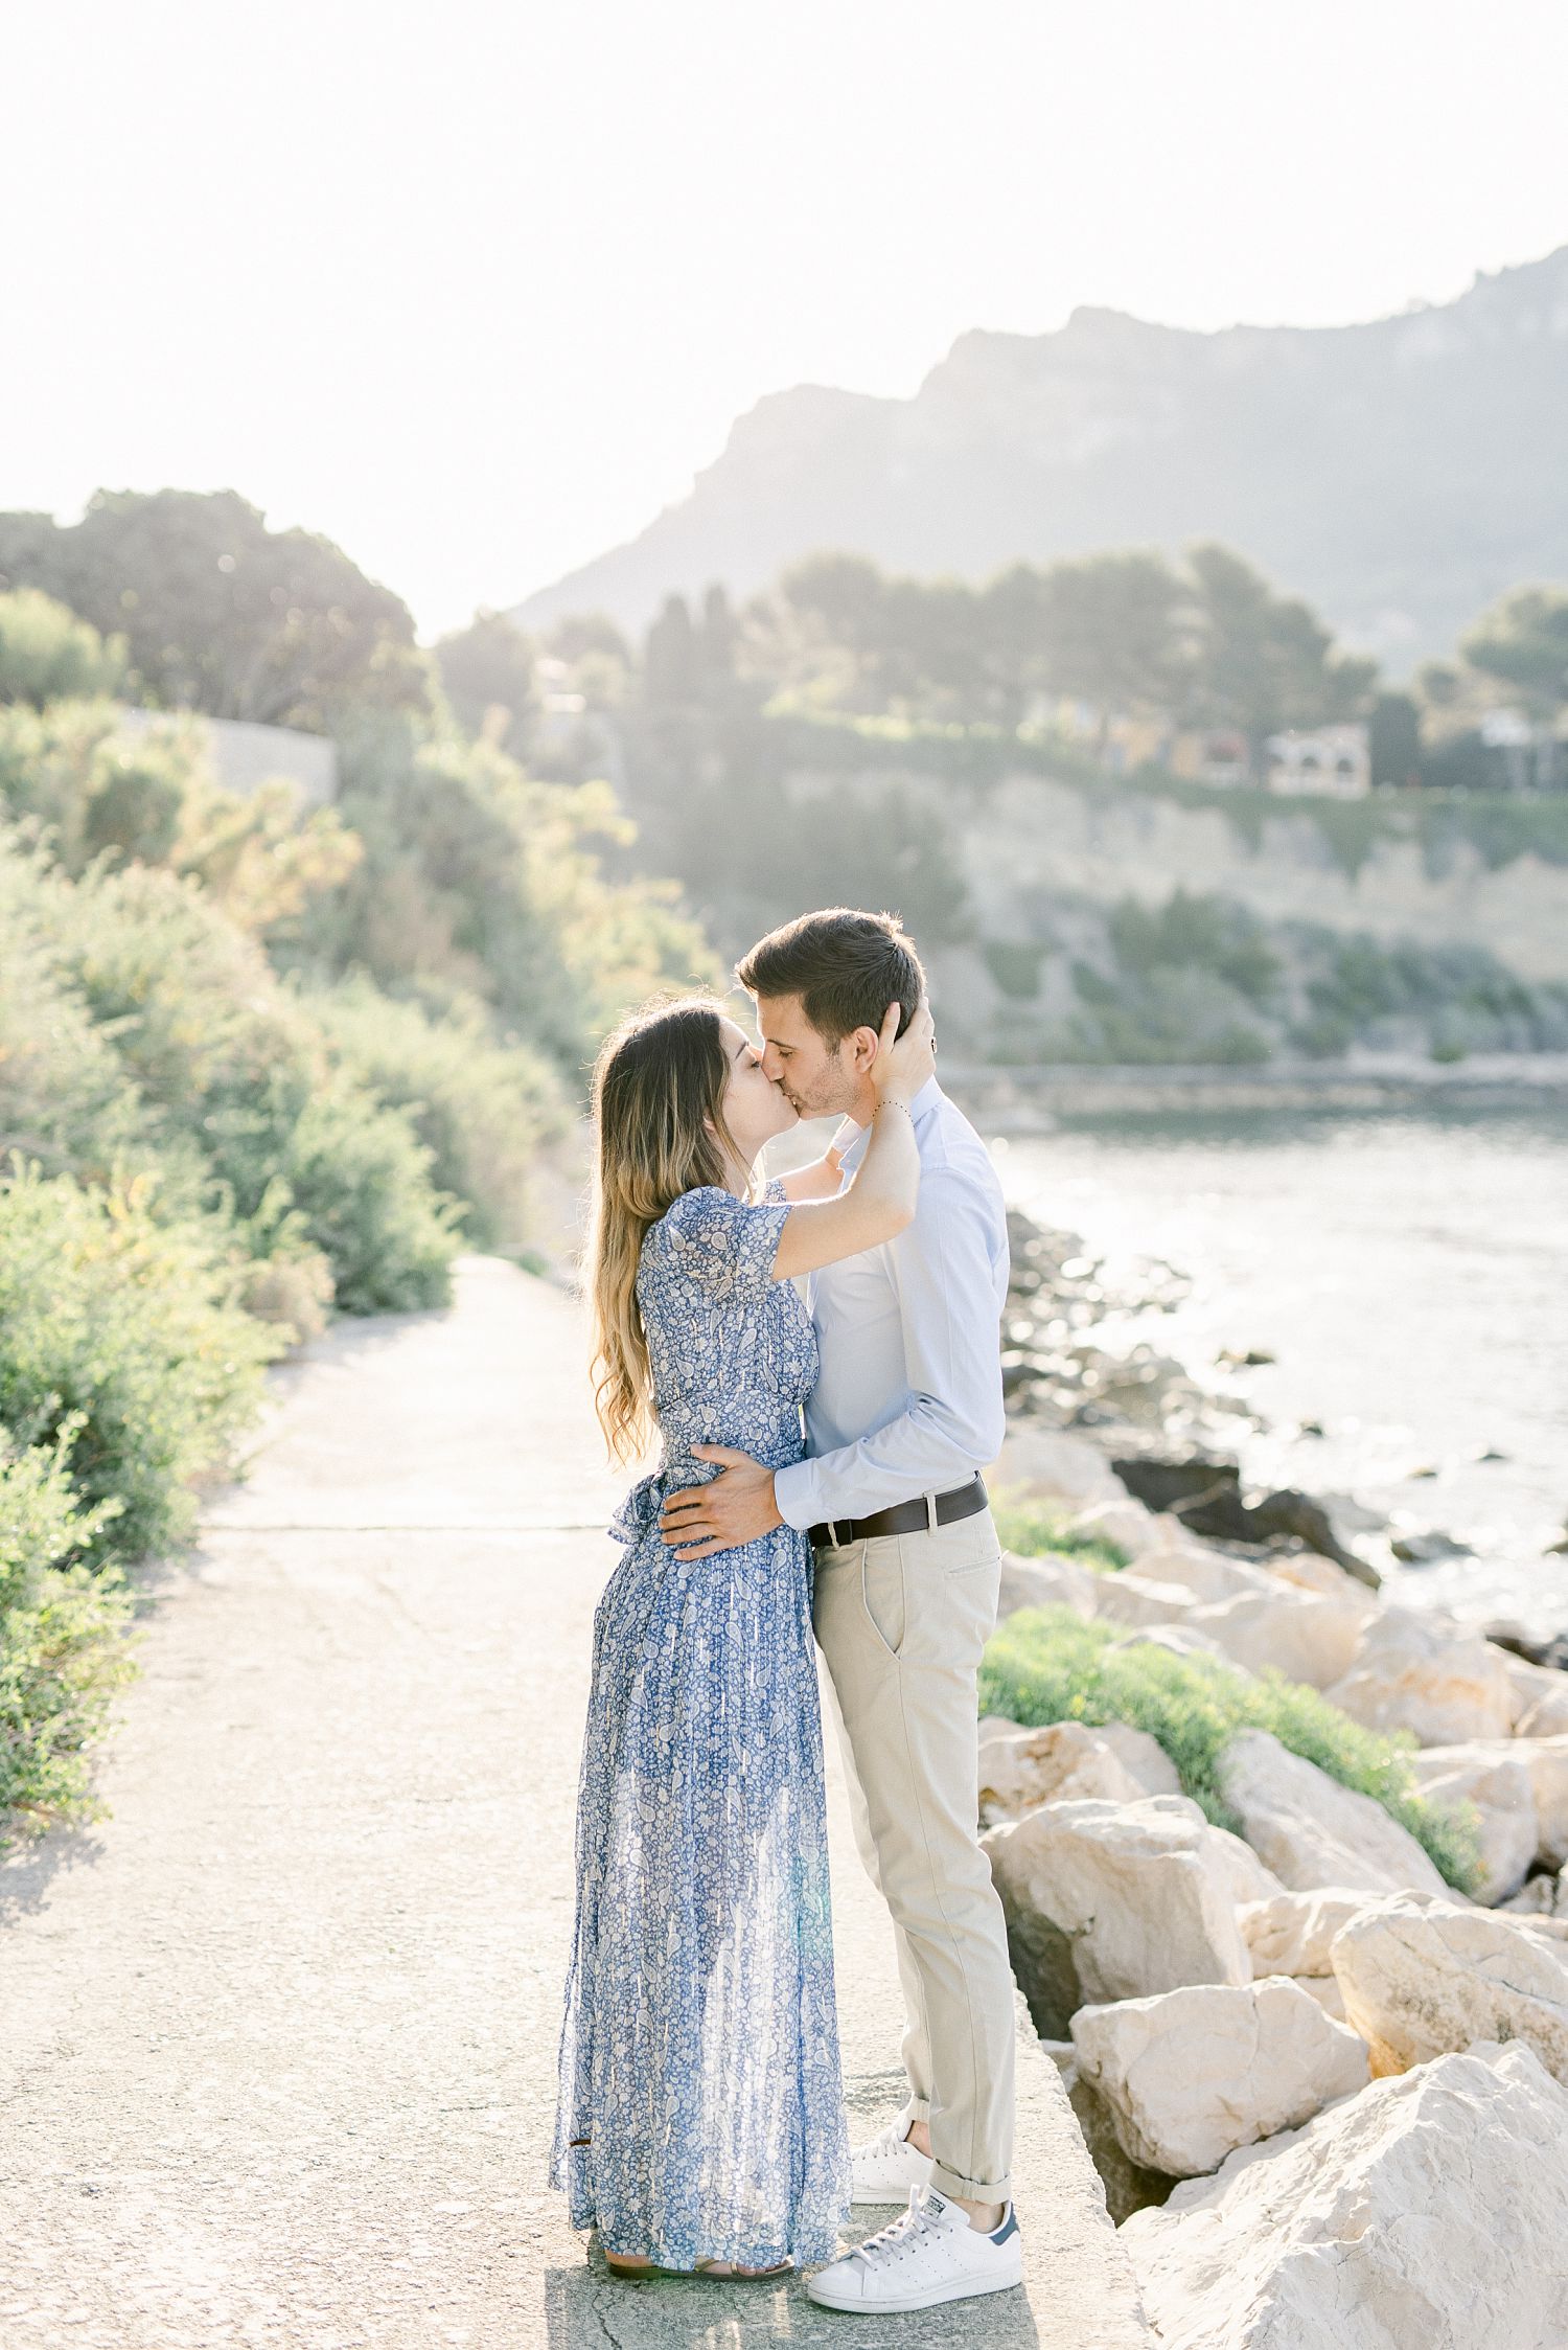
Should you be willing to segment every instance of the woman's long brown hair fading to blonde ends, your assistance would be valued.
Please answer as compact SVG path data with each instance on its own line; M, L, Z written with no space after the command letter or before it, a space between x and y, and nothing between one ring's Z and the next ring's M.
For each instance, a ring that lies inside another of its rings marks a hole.
M594 1203L584 1288L594 1314L594 1410L613 1459L653 1436L648 1337L636 1304L643 1234L683 1191L723 1184L732 1159L730 1065L716 1003L655 1003L594 1069Z

